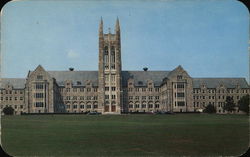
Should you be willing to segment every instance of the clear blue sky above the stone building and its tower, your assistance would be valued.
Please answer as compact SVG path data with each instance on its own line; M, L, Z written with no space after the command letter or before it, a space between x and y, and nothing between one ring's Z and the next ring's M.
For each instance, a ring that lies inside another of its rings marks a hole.
M97 70L98 25L120 19L122 69L249 78L249 13L236 0L13 1L1 17L2 77Z

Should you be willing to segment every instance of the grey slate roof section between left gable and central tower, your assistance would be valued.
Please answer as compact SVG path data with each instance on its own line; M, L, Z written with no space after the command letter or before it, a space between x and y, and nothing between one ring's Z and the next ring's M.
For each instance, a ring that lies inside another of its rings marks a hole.
M93 86L98 86L98 71L48 71L49 75L56 79L59 86L64 86L66 80L71 80L73 86L81 82L85 86L87 80L90 80Z

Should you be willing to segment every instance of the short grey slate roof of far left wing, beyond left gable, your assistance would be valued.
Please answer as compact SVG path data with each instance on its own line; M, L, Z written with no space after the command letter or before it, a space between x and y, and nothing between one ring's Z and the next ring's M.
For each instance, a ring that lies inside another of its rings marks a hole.
M5 88L5 85L10 84L15 89L24 89L25 88L24 78L1 78L0 79L0 88Z

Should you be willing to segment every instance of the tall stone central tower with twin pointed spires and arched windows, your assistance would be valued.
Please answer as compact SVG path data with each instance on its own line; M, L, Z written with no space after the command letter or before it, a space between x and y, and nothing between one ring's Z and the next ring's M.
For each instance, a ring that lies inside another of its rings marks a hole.
M120 114L122 108L121 85L121 36L119 19L114 34L103 33L103 21L99 25L99 96L98 104L103 114Z

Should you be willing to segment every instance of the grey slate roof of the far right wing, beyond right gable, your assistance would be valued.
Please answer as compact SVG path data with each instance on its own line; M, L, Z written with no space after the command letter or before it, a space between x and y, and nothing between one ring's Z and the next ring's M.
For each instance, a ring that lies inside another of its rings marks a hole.
M200 88L205 84L207 88L216 88L223 84L226 88L249 88L245 78L193 78L193 88Z

